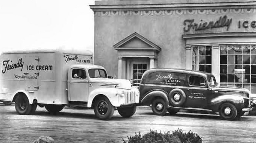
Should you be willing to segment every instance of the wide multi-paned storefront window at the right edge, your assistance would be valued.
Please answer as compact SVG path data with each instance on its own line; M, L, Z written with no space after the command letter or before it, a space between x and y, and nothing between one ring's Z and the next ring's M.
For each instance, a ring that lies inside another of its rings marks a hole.
M220 46L220 82L256 93L256 45Z

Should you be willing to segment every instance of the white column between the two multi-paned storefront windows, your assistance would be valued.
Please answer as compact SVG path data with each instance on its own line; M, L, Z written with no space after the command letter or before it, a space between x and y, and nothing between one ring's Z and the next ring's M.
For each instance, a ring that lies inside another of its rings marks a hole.
M216 81L220 82L220 47L219 45L212 45L212 74Z

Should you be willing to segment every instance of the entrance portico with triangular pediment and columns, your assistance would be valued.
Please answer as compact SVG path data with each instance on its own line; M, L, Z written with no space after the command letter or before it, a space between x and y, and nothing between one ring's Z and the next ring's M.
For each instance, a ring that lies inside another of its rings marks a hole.
M117 42L113 47L118 54L118 78L136 80L138 84L138 73L143 74L145 68L157 67L157 55L161 48L137 32Z

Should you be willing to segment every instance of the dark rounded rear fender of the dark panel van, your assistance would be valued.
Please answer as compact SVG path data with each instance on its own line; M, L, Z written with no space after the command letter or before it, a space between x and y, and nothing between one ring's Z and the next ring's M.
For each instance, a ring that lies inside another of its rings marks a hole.
M150 105L155 97L163 98L167 105L169 105L168 94L163 90L149 91L140 101L142 105Z

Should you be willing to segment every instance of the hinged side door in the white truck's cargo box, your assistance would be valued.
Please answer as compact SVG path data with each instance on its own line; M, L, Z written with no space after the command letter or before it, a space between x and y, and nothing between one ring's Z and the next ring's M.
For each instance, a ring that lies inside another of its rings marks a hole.
M25 80L26 90L38 90L38 76L39 72L36 66L39 64L39 56L25 56L24 63L25 70L23 72L23 80Z

